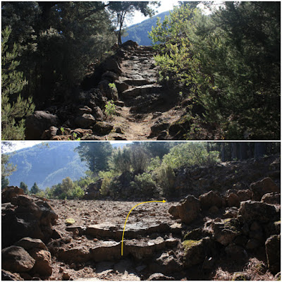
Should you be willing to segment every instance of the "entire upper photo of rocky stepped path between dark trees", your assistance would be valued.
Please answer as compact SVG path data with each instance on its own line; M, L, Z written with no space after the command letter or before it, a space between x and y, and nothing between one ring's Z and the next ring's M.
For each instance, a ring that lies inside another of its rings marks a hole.
M280 25L280 1L2 1L1 140L280 140Z

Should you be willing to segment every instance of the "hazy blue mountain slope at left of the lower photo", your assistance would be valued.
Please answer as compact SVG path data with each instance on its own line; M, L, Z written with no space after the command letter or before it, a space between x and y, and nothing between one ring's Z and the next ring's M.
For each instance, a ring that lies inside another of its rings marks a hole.
M39 188L55 185L67 176L77 180L85 175L87 166L74 152L79 142L49 142L48 146L36 145L11 154L11 163L17 171L10 177L10 185L23 181L30 189L36 182Z

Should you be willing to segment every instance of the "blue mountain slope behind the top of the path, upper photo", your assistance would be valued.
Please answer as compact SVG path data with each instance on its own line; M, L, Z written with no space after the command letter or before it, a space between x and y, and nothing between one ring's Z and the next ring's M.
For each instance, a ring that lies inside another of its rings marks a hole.
M141 23L137 23L135 25L131 25L126 29L125 32L128 33L127 36L122 37L122 41L133 40L137 42L139 45L149 46L152 45L151 39L148 37L148 32L152 30L152 26L155 26L157 23L157 19L160 18L161 22L164 20L165 16L169 15L169 11L159 13L159 15L154 16L152 18L148 18L147 20L143 20Z

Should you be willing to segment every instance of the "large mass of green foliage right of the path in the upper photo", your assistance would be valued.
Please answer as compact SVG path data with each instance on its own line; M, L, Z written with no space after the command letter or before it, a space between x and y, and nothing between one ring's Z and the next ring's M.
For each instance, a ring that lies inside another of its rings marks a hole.
M204 16L174 8L150 37L160 78L204 108L222 139L280 138L280 3L226 2Z

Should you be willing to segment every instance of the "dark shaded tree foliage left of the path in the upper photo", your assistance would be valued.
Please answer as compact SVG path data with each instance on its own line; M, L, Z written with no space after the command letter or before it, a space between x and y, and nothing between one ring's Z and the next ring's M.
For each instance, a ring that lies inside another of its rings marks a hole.
M25 94L42 105L49 98L68 99L71 89L114 44L106 4L88 2L5 2L2 27L20 42L21 71L29 81Z

